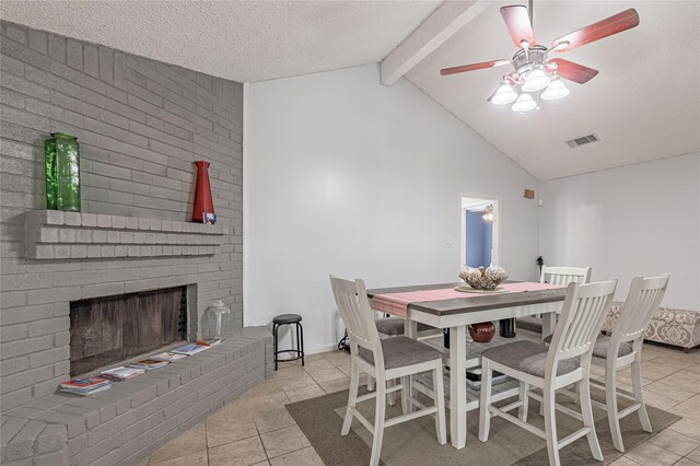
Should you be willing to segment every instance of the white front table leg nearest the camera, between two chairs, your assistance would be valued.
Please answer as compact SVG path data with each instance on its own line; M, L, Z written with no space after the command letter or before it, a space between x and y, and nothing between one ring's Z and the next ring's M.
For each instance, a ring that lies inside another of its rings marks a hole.
M467 326L450 328L450 436L452 446L467 444Z

